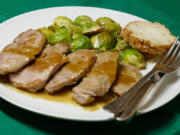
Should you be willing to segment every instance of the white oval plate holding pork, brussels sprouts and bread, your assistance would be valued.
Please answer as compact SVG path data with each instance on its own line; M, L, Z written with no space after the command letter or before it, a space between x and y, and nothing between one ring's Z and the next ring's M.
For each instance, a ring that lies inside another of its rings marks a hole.
M0 50L10 43L18 34L27 29L36 29L51 25L52 20L57 16L67 16L74 19L79 15L88 15L94 20L103 16L110 17L123 27L131 21L144 20L127 13L92 7L55 7L36 10L13 17L0 24ZM147 69L142 71L142 73L146 74L153 66L153 63L148 64ZM180 79L177 73L168 75L163 80L163 83L154 88L145 98L138 111L140 114L164 105L179 94L180 89L178 87L180 87ZM113 118L111 113L105 112L103 109L89 112L70 104L23 95L2 84L0 84L0 97L21 108L56 118L81 121L103 121Z

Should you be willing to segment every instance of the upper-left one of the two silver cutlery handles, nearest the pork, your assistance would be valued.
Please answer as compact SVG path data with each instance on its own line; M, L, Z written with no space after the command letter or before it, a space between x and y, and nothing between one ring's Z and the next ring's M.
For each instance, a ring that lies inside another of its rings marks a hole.
M125 93L123 96L119 97L112 103L106 105L104 109L109 112L115 113L115 115L121 113L132 100L132 98L138 93L139 89L141 89L155 75L155 73L156 70L151 70L147 75L145 75L141 80L139 80L127 93Z

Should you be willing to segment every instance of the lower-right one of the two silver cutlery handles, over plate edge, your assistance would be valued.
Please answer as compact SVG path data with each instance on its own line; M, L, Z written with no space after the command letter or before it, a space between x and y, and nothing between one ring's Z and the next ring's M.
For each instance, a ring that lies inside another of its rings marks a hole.
M150 89L155 85L153 80L148 80L146 84L139 90L137 95L132 98L131 102L128 106L124 109L124 111L120 114L115 116L115 119L118 121L127 121L129 120L137 111L141 101L144 99L145 95L150 91Z

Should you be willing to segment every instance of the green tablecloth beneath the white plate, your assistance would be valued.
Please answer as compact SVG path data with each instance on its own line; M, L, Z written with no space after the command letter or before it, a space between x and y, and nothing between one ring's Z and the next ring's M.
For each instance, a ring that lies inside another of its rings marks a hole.
M180 34L179 0L1 0L0 22L18 14L57 6L91 6L119 10L165 24ZM0 99L0 135L36 134L180 135L180 96L129 124L82 123L34 114Z

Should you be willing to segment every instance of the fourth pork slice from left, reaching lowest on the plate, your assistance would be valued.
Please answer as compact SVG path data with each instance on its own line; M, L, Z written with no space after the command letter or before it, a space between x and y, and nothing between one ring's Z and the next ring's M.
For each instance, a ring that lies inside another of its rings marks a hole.
M79 104L88 104L97 96L104 96L116 79L118 52L105 51L97 55L92 70L73 88L73 98Z

